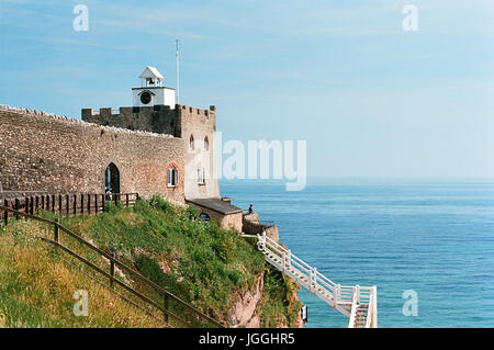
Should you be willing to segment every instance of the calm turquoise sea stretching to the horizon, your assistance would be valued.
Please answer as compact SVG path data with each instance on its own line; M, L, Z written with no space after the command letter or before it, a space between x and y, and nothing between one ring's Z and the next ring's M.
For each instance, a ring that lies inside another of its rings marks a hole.
M223 195L274 221L293 253L336 283L378 285L380 327L494 327L494 184L332 183L287 192L222 181ZM404 316L403 292L418 296ZM348 319L300 291L305 327Z

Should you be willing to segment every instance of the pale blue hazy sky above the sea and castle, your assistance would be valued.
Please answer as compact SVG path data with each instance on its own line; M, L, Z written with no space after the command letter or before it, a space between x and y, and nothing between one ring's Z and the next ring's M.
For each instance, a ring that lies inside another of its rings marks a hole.
M176 87L176 38L180 102L224 140L306 140L310 178L494 177L492 0L0 0L0 103L128 106L147 65Z

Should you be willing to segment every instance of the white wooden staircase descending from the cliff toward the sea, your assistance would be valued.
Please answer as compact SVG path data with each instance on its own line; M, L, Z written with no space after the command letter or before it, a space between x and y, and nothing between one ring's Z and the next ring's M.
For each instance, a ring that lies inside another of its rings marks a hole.
M317 295L329 306L349 317L349 328L378 327L377 286L336 284L316 268L292 255L290 249L266 236L257 235L257 247L266 261Z

